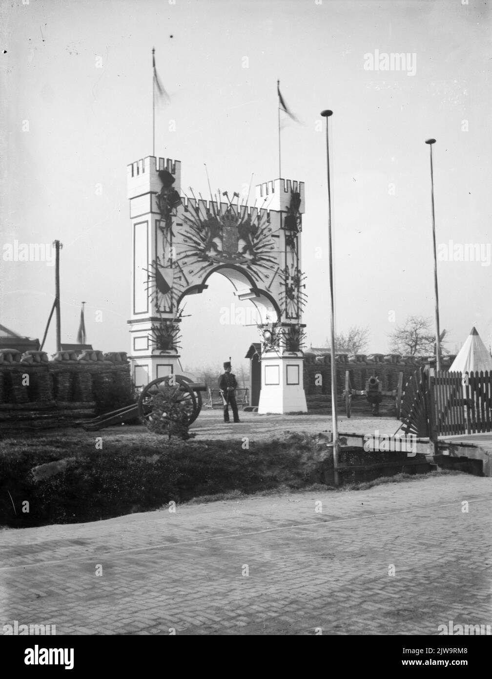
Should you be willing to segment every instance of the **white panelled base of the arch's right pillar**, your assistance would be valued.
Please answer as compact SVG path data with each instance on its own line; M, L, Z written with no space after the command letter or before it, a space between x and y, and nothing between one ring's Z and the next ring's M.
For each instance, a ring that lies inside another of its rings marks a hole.
M300 354L261 355L259 414L307 413L303 385L303 358Z

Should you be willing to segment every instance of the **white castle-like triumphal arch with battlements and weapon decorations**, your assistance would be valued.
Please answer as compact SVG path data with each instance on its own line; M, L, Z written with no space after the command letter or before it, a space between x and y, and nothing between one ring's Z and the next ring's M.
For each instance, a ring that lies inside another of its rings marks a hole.
M143 386L180 373L181 301L218 272L257 308L261 334L259 413L306 411L301 271L304 184L256 187L210 200L181 188L181 163L153 156L128 166L132 221L132 373ZM210 329L213 332L214 329Z

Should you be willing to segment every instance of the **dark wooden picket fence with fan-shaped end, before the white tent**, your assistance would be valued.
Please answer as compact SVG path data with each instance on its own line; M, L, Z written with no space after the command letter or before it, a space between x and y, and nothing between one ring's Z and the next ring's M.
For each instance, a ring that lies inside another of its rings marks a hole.
M492 371L462 375L420 368L405 386L401 418L406 433L433 441L492 431Z

